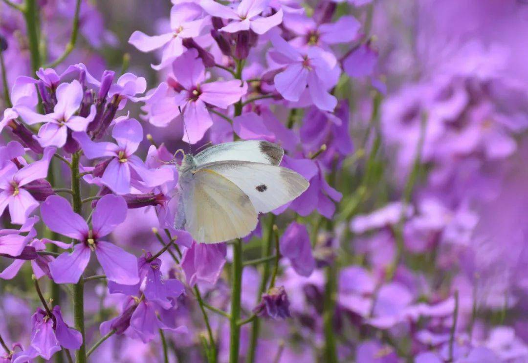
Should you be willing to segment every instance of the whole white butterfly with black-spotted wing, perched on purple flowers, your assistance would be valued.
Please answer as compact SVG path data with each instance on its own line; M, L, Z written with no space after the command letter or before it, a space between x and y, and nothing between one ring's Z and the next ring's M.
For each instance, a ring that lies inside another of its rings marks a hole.
M284 150L268 141L235 141L186 154L180 173L180 205L174 225L199 243L240 238L253 231L259 213L297 198L308 180L278 166Z

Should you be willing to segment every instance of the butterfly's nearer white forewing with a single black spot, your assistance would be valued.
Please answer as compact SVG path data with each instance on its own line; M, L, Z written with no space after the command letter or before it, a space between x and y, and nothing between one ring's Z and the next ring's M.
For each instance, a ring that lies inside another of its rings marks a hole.
M281 166L250 161L217 161L201 169L212 170L238 186L255 211L267 213L291 202L309 186L308 180Z

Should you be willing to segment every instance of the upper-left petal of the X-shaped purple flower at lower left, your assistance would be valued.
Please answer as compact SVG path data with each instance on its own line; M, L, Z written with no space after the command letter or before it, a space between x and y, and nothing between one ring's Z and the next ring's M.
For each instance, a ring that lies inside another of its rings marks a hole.
M68 200L51 195L40 207L42 221L50 230L76 240L83 240L88 235L88 225L77 213L73 213Z

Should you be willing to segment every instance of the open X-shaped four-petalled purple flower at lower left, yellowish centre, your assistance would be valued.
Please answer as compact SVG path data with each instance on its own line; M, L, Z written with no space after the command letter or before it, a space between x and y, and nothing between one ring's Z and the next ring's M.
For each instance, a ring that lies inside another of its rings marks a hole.
M50 230L79 241L72 253L64 252L49 264L53 281L77 283L90 261L91 251L95 251L109 281L126 285L139 281L136 257L100 239L125 221L125 199L111 194L103 196L93 211L91 229L73 212L68 200L59 196L48 197L41 206L41 214Z

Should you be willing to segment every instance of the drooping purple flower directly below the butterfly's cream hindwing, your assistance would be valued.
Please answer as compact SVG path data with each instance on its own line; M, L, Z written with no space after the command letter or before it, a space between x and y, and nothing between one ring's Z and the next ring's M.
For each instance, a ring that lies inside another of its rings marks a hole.
M197 282L214 285L222 272L226 253L225 243L193 242L181 262L187 285L194 286Z

